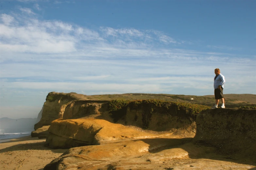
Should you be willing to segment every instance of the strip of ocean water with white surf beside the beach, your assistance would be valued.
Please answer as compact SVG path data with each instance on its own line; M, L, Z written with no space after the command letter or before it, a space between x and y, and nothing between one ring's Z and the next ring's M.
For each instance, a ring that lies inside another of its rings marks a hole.
M25 129L25 130L10 130L10 129L0 129L0 143L3 139L15 139L19 137L29 136L33 129Z

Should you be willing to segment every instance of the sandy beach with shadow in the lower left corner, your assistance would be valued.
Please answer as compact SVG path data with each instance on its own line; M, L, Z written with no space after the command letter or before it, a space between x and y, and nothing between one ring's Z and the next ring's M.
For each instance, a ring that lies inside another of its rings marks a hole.
M3 170L42 170L67 150L49 149L43 146L45 139L31 136L1 142L0 169Z

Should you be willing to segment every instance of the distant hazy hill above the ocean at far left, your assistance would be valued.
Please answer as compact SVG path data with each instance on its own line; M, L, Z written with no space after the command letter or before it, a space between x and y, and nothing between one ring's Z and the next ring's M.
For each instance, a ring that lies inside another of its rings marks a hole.
M31 130L37 118L10 119L0 118L0 129L3 130Z

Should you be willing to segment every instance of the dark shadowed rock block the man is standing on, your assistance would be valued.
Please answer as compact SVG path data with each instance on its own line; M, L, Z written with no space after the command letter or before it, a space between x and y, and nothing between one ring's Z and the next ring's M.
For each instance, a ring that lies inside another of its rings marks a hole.
M200 112L194 142L223 153L253 153L251 157L256 160L256 110L216 108Z

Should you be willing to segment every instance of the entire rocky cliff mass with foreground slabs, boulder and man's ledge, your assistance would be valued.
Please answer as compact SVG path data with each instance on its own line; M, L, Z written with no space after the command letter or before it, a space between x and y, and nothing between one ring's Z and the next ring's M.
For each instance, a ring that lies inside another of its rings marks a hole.
M47 97L45 146L70 149L44 170L256 168L255 110L78 95Z

